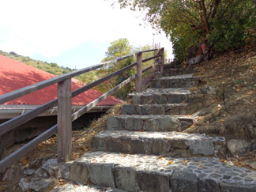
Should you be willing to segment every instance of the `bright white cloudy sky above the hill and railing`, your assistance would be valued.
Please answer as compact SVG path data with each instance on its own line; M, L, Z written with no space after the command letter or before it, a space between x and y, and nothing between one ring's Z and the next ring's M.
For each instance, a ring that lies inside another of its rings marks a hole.
M160 43L173 58L171 42L143 21L144 14L120 9L115 0L1 1L0 50L59 66L81 69L100 63L110 42L133 46Z

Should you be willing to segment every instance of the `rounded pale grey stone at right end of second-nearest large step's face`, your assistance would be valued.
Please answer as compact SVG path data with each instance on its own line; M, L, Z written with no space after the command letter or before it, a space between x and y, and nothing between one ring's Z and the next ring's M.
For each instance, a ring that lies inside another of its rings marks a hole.
M193 155L211 156L214 153L213 143L207 141L197 141L190 145L190 153Z

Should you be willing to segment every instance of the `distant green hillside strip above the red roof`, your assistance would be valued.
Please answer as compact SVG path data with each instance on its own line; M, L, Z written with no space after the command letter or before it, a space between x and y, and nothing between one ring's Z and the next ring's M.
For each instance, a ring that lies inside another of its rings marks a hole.
M13 58L19 62L23 62L27 64L28 66L33 66L33 67L36 67L37 69L44 70L48 73L52 73L55 75L70 73L72 71L69 67L64 67L64 66L60 67L56 63L47 63L47 62L37 61L29 57L17 55L14 52L6 53L4 51L0 51L0 55Z

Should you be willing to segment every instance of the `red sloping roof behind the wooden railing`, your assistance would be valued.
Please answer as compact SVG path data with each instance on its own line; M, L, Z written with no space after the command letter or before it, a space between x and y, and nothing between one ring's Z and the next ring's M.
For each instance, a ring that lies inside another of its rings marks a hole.
M0 55L0 95L7 92L12 92L17 88L23 88L28 85L35 84L40 81L47 80L55 77L51 73L47 73L43 70L36 69L32 66L28 66L22 62L7 58ZM82 85L78 85L72 81L71 89L75 90L81 88ZM92 100L96 100L103 93L96 91L95 89L89 89L86 92L81 93L78 96L72 98L73 105L86 105ZM45 104L48 101L57 98L57 85L51 85L47 88L40 89L36 92L32 92L26 96L21 96L16 100L6 102L6 104L30 104L40 105ZM98 105L115 105L122 103L122 100L115 98L114 96L107 97Z

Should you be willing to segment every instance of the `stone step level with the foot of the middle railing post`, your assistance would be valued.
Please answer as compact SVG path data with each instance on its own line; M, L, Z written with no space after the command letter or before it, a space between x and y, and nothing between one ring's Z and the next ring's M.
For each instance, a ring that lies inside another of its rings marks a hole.
M133 95L133 104L181 104L189 95L188 88L148 88Z

